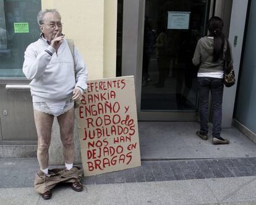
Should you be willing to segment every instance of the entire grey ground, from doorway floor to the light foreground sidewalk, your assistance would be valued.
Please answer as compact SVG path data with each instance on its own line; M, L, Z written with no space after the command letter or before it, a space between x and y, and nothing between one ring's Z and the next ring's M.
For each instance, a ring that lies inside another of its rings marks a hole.
M256 204L256 145L233 127L214 146L197 128L140 122L141 167L84 177L81 193L58 186L49 201L33 190L36 158L0 159L0 204Z

